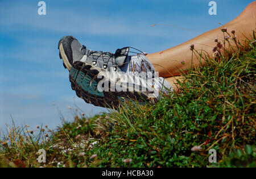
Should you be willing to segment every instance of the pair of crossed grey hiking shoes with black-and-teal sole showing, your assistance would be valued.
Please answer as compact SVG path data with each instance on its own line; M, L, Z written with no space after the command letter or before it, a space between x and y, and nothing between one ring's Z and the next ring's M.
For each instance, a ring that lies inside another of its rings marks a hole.
M73 36L60 39L58 48L64 67L69 70L71 87L85 102L113 108L126 99L141 103L159 101L159 89L164 84L159 86L161 78L157 78L143 52L131 52L135 49L132 47L117 49L115 53L92 51ZM129 56L129 52L137 55ZM171 89L168 85L167 88Z

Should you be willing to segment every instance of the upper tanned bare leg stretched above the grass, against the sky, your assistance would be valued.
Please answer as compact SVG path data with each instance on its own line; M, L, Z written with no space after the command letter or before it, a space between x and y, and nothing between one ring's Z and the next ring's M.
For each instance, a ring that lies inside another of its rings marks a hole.
M147 58L154 65L156 71L159 72L160 77L180 75L179 70L189 69L192 65L197 66L200 64L199 60L196 60L195 56L193 57L195 60L192 61L192 52L189 49L191 44L195 44L195 48L197 50L200 51L203 49L212 56L212 49L216 46L216 43L213 41L214 38L218 38L219 40L224 39L221 28L226 27L228 32L236 30L237 39L242 42L242 40L250 38L252 31L255 31L255 16L256 1L250 3L250 5L248 5L236 19L224 26L205 32L204 34L201 34L183 44L177 45L176 47L148 54ZM201 63L204 64L204 61L201 61Z

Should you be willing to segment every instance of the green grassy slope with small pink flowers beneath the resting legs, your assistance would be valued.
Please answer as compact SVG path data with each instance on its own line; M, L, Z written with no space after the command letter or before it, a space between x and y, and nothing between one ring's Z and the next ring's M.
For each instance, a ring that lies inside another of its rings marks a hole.
M179 89L155 105L127 101L93 118L73 110L74 121L63 120L55 131L13 124L0 138L0 166L255 167L254 34L251 39L236 41L240 50L215 48L214 60L193 46L193 60L207 65L183 74ZM38 162L39 149L46 163ZM217 163L209 163L209 149Z

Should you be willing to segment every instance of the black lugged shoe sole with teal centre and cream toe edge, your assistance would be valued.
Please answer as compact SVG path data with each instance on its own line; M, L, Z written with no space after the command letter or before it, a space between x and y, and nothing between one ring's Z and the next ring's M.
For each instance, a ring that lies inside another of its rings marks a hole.
M97 76L100 72L105 71L95 65L81 61L75 61L71 65L65 54L61 40L59 43L60 59L63 60L63 63L70 71L69 81L71 82L71 88L76 91L77 97L84 99L86 103L90 103L94 106L114 108L125 101L137 100L142 105L146 102L156 102L155 99L148 99L147 95L140 91L118 92L110 91L110 88L106 91L98 91L97 85L101 80L104 80L105 76L102 75L101 79L97 78Z

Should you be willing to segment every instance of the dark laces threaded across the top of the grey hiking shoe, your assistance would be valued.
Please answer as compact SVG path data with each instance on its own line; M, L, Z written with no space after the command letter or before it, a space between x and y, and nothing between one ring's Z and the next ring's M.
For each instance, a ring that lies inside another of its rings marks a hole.
M140 50L137 49L137 48L134 48L134 47L124 47L124 48L129 48L128 53L137 53L137 55L139 54L138 52L130 51L130 48L132 48L132 49L135 49L135 50L141 52L143 55L145 55L142 51L140 51ZM120 49L119 49L119 50L120 50ZM85 47L85 45L82 45L81 51L84 51L84 54L86 54L86 47ZM117 51L118 51L118 49L117 49ZM118 65L118 63L117 63L117 61L115 61L115 57L116 57L115 55L117 54L117 51L115 51L115 53L111 53L111 52L102 52L102 51L91 51L91 52L88 53L88 56L91 56L91 55L92 55L92 57L93 57L93 65L96 65L96 64L97 64L97 60L98 60L100 57L102 57L103 68L104 68L104 69L108 68L109 60L112 59L112 64L113 64L113 66L114 66L114 70L116 71L116 70L117 70L117 65ZM95 55L95 53L97 53L97 55ZM98 55L98 54L100 54L100 55ZM105 57L106 57L106 56L109 57L109 59L108 59L107 61L104 61L104 55L105 55ZM96 59L94 59L95 56L97 57ZM113 57L114 57L114 58L113 58ZM113 59L114 59L114 61L113 61ZM129 63L130 63L130 62L129 62Z

